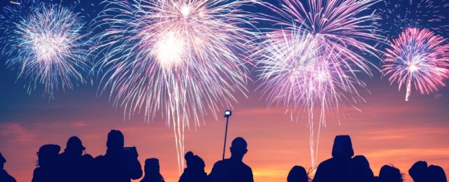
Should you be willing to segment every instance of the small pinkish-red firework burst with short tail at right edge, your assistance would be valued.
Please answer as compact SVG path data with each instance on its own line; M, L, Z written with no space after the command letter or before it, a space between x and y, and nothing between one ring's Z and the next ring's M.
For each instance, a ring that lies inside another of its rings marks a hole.
M429 94L444 86L448 78L449 44L446 38L429 29L408 28L390 41L385 52L382 72L390 75L390 83L397 82L399 90L406 85L406 101L412 85L421 94Z

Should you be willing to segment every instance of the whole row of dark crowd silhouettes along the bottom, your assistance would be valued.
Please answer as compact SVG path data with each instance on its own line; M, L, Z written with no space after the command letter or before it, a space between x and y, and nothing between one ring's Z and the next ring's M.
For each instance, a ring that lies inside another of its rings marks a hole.
M232 141L229 159L220 160L213 165L209 174L205 171L204 160L192 152L185 154L187 167L178 182L252 182L252 169L243 162L248 152L245 139L237 137ZM141 179L143 171L138 161L136 147L124 147L124 136L118 130L108 133L106 154L93 158L83 154L85 147L78 137L67 141L64 152L55 144L46 144L36 153L38 161L32 182L80 182L117 181L129 182ZM6 159L0 153L0 181L15 182L3 166ZM159 160L145 160L145 176L141 182L163 182L159 172ZM427 165L425 161L416 162L408 174L415 182L447 182L443 168ZM399 182L403 175L396 167L385 165L375 176L368 160L363 155L354 156L349 136L336 136L332 148L332 158L321 162L313 179L301 166L294 166L287 176L287 182Z

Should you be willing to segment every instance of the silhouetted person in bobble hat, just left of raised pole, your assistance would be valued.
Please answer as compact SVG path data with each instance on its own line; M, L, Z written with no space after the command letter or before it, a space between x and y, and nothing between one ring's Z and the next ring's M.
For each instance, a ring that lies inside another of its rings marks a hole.
M187 167L184 169L183 175L180 176L179 182L206 182L208 177L204 172L204 160L199 158L198 155L193 155L192 152L185 153L185 162Z

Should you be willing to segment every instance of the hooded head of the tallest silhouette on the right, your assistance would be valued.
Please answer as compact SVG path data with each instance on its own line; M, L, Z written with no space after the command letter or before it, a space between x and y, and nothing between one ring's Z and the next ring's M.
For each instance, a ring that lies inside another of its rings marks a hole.
M332 147L333 158L351 158L354 155L352 142L349 135L338 135L334 139Z

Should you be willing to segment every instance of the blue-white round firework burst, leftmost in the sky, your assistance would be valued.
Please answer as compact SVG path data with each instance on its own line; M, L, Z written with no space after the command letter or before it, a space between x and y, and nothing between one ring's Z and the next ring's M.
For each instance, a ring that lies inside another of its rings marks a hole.
M71 8L21 1L0 16L2 55L18 78L28 78L28 92L38 84L53 97L56 90L85 83L90 64L83 17Z

